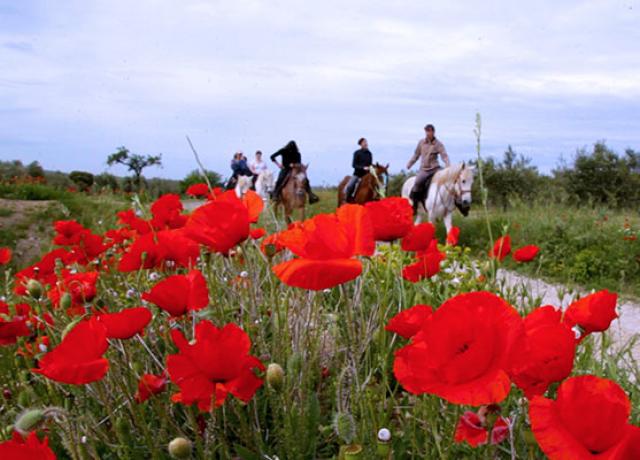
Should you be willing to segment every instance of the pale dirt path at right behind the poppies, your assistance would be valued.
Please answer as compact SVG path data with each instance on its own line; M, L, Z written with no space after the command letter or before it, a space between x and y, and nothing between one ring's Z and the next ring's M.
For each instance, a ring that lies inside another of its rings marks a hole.
M554 305L566 308L576 294L584 295L586 292L567 289L561 284L551 284L546 281L530 278L509 270L498 271L498 281L504 283L507 289L522 290L529 293L531 298L540 298L540 305ZM523 298L524 299L524 298ZM640 303L628 299L618 300L619 317L611 323L611 332L614 342L624 345L634 334L640 334ZM633 348L633 356L640 360L640 343Z

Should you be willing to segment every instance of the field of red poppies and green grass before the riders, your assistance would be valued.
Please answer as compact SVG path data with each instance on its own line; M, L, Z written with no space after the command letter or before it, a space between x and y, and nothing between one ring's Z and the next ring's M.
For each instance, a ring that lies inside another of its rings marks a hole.
M312 213L335 212L334 196L323 191ZM270 235L285 225L270 208L250 225L259 206L224 196L188 217L177 198L138 201L138 215L120 222L115 212L130 206L121 199L46 199L66 203L49 221L82 225L58 224L56 244L43 245L67 252L17 277L24 265L6 272L0 326L15 324L13 336L0 329L2 440L14 429L38 433L57 458L73 459L638 452L629 424L640 423L639 368L633 341L613 343L607 331L612 295L560 318L495 277L507 267L638 295L635 215L475 209L455 219L458 244L445 244L438 228L439 245L429 245L422 227L410 250L415 230L393 199L280 240ZM514 250L533 244L539 255L489 257L506 234ZM416 250L429 262L412 282L403 270L422 260ZM543 327L522 321L533 311ZM559 393L562 405L553 402Z

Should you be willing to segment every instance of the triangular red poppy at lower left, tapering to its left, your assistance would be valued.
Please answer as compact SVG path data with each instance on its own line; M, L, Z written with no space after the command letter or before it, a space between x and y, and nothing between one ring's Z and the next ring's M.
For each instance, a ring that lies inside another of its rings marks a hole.
M83 320L32 371L60 383L95 382L109 370L109 361L102 357L108 346L104 325L95 319Z

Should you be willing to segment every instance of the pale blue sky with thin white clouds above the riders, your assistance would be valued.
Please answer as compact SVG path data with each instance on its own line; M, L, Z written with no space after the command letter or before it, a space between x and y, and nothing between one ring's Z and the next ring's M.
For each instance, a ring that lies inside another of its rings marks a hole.
M508 145L543 172L606 140L640 149L640 1L0 0L0 160L227 175L296 140L312 183L357 140L405 167L426 123L454 161Z

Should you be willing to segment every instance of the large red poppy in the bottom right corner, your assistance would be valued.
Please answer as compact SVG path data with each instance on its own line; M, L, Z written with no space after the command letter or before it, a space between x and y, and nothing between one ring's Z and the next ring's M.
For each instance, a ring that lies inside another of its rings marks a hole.
M555 401L536 396L529 402L531 429L551 460L635 458L621 455L639 447L630 413L624 390L593 375L562 382Z

